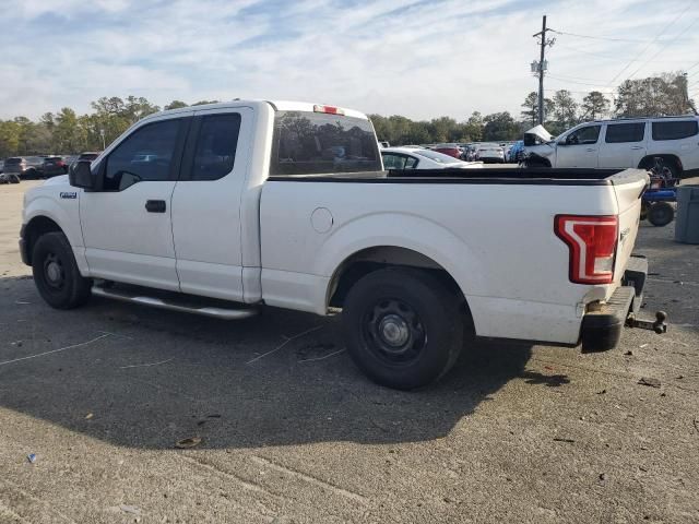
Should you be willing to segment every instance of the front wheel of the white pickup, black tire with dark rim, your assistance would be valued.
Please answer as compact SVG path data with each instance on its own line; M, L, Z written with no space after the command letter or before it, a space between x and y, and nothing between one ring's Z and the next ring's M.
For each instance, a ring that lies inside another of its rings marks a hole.
M36 240L32 273L39 295L52 308L72 309L90 299L92 281L80 274L73 250L62 233L46 233Z

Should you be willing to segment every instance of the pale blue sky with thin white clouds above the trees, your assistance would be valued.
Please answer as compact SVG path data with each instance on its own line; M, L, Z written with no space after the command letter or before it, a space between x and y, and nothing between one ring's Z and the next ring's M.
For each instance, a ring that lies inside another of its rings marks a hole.
M0 118L128 95L519 116L544 14L547 95L685 70L699 99L699 0L0 0Z

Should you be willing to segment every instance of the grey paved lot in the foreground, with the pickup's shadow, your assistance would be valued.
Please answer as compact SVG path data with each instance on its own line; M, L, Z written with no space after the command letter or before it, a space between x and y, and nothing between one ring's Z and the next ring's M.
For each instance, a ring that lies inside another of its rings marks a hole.
M16 248L34 183L0 186L0 523L699 522L699 246L672 225L637 245L666 335L482 343L401 393L336 319L51 310Z

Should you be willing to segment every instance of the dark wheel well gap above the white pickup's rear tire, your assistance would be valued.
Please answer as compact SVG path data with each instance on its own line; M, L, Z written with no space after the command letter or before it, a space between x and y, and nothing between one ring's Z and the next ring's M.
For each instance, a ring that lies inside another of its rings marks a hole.
M439 278L447 289L459 297L460 301L465 303L465 297L457 281L433 259L406 248L379 246L358 251L340 264L330 282L328 305L333 308L342 308L352 286L369 273L387 267L411 267L428 271Z

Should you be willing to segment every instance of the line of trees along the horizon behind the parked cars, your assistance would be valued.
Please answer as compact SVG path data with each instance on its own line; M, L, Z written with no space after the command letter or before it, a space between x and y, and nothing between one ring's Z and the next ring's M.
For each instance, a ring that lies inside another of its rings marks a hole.
M567 90L556 91L544 99L544 127L554 135L588 120L606 117L647 117L696 112L686 96L687 78L680 73L662 73L639 80L627 80L616 90L614 100L600 91L588 93L577 100ZM192 106L217 100L200 100ZM187 107L173 100L163 109ZM0 158L32 154L73 154L99 151L139 119L159 111L146 98L112 96L91 103L92 111L78 115L70 107L46 112L38 121L26 117L0 120ZM499 142L518 140L536 124L538 97L526 95L518 117L508 111L482 115L474 111L464 120L439 117L431 120L411 120L393 115L370 115L381 141L393 145L440 142Z

